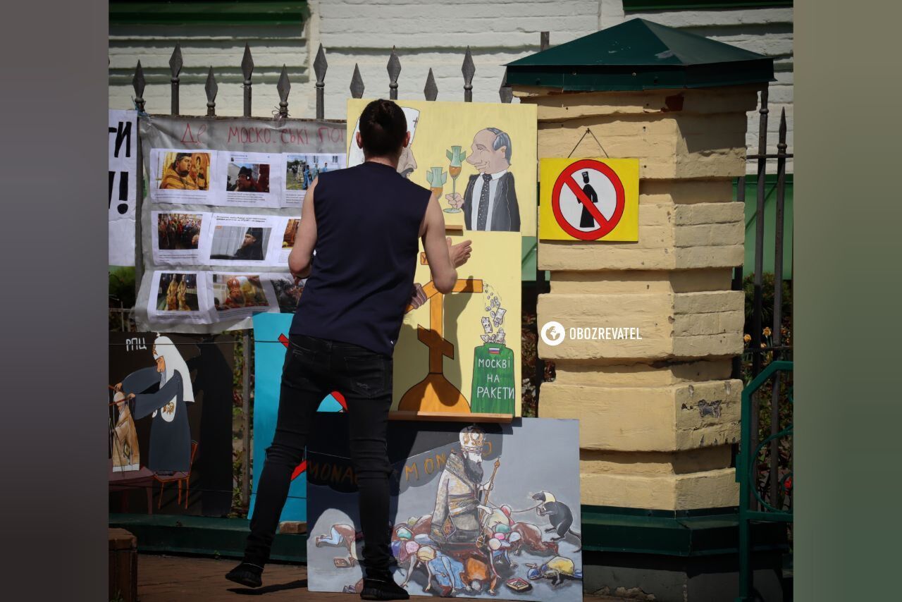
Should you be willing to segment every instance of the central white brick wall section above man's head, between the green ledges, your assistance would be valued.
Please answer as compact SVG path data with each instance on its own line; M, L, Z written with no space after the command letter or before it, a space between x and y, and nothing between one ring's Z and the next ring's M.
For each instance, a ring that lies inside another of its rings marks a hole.
M344 116L354 63L365 97L388 96L392 46L401 64L399 97L423 98L431 68L438 98L463 100L461 66L470 46L474 100L498 102L503 63L538 51L539 32L552 32L561 43L597 31L598 6L598 0L318 0L311 3L316 43L327 48L327 82L335 82L326 87L327 116Z

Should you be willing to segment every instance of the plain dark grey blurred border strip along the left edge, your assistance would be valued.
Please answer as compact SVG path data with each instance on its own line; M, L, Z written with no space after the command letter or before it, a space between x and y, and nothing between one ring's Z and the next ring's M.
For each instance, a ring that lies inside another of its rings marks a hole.
M3 585L107 600L107 3L4 5Z

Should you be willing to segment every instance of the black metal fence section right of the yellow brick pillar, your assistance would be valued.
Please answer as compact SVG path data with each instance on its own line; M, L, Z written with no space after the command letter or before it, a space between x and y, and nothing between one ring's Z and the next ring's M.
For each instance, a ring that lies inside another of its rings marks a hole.
M786 110L780 115L777 153L768 153L768 88L761 92L758 153L754 162L755 240L754 273L743 279L742 268L733 273L733 290L746 295L746 348L733 360L733 377L746 384L742 394L742 436L737 458L737 480L741 483L741 595L752 599L749 523L783 521L787 541L792 539L793 507L793 371L792 306L790 282L784 282L786 246L787 153ZM772 278L765 273L765 199L769 164L776 160L777 187L774 211L774 265ZM770 161L770 163L769 163ZM746 202L746 177L740 178L737 200ZM791 252L791 249L790 249ZM750 282L749 282L750 281ZM790 293L790 300L784 298ZM772 307L765 298L772 296ZM787 301L789 301L787 303ZM765 315L771 320L766 323Z

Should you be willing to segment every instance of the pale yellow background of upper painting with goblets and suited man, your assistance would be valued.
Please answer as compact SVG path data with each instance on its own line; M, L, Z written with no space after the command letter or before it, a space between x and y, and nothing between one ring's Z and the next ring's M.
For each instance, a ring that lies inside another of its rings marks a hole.
M364 107L373 99L349 98L347 101L347 140L354 142L354 125ZM473 136L486 127L497 127L511 136L511 173L517 190L517 204L520 207L520 236L536 236L536 125L535 105L508 105L501 103L465 103L426 100L398 100L401 107L419 110L419 122L414 134L411 150L417 161L417 170L410 174L410 180L424 188L429 188L426 173L431 167L448 169L446 150L452 145L460 146L470 156ZM461 195L466 190L470 176L478 173L476 168L464 161L463 169L457 177L456 191ZM452 189L451 175L448 174L445 190L442 191L442 208L448 208L445 199ZM464 225L464 213L445 213L448 225ZM516 241L520 253L520 241ZM519 268L517 268L519 269Z

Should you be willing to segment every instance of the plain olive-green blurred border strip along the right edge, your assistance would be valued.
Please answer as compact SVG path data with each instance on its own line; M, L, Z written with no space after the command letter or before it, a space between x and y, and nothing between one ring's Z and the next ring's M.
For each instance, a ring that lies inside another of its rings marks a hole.
M902 588L902 7L796 0L796 532L803 602Z

